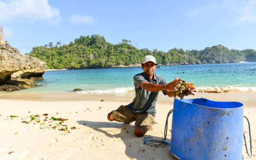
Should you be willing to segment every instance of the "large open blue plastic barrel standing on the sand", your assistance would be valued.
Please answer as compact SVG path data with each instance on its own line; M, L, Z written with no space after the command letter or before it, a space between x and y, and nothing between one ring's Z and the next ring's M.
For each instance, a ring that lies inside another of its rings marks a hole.
M244 107L208 99L174 101L170 151L179 160L242 160Z

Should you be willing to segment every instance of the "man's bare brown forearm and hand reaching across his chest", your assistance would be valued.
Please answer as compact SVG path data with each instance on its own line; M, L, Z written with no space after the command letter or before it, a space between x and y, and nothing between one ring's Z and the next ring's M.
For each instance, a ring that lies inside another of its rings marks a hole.
M140 84L140 87L144 88L147 91L158 92L161 90L169 90L176 91L180 84L182 83L182 79L176 79L168 84L152 84L144 81ZM167 94L167 93L166 93ZM169 96L169 95L168 95Z

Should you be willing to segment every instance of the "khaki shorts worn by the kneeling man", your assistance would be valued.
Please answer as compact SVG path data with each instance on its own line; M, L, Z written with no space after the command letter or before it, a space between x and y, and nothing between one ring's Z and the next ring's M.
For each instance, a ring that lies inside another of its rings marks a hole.
M116 111L112 111L111 116L113 116L117 122L131 123L135 121L135 127L140 127L143 131L147 131L149 126L156 124L153 115L148 113L136 115L128 109L127 105L121 105Z

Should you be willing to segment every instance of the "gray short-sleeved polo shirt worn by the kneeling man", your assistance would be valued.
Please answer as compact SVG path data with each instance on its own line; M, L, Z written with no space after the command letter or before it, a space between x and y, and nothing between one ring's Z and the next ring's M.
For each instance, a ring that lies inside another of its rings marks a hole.
M152 81L146 76L146 74L139 73L134 76L134 86L135 86L135 98L128 106L132 113L138 115L141 113L149 113L153 116L156 115L156 102L159 92L147 91L140 87L140 84L144 81L153 84L168 84L166 79L161 76L154 74ZM163 90L163 93L165 90ZM166 93L164 93L166 95Z

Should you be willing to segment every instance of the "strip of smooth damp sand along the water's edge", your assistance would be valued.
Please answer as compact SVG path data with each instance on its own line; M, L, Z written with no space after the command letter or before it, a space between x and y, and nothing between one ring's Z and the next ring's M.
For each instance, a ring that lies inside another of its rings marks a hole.
M195 96L185 96L184 99L206 98L215 99L215 101L233 101L237 99L253 100L256 92L243 93L195 93ZM131 103L135 97L135 93L125 94L79 94L79 93L63 93L63 94L16 94L16 95L1 95L0 100L12 101L38 101L38 102L83 102L83 101L108 101L108 102L127 102ZM157 103L165 104L166 102L173 102L173 97L158 94ZM244 100L243 100L244 101ZM246 104L247 102L244 101ZM256 104L256 99L253 101ZM256 107L256 106L255 106Z

